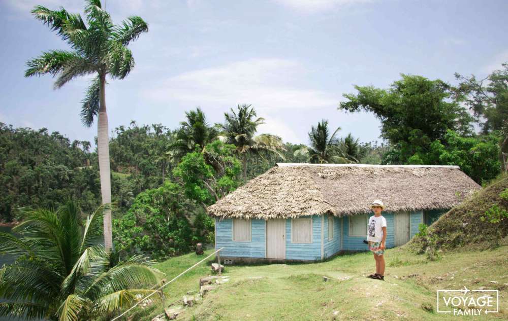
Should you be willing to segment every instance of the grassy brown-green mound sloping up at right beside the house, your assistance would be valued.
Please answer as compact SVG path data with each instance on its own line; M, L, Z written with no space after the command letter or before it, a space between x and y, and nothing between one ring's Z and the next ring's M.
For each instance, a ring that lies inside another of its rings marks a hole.
M508 219L492 224L482 221L485 212L497 205L508 211L508 175L499 176L460 205L444 213L428 227L427 233L415 236L407 246L424 252L430 249L451 249L458 246L488 247L508 235ZM502 196L505 192L506 196Z

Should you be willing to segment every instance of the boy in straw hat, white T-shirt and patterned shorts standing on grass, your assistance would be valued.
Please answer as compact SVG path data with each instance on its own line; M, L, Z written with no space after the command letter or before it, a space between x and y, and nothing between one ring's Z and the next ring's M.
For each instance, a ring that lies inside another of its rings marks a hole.
M370 274L368 277L384 280L385 279L385 241L386 241L386 219L381 215L381 211L385 209L385 205L380 200L375 200L370 205L374 215L369 218L367 228L367 241L369 241L369 249L374 254L376 261L376 273Z

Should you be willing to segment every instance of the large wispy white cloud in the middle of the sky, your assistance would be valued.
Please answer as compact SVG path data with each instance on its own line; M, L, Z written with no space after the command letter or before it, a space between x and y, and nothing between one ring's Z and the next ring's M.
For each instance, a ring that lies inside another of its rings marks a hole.
M171 77L145 90L143 95L156 101L177 100L203 106L250 103L258 110L335 106L339 97L296 84L306 78L306 73L294 60L249 59Z

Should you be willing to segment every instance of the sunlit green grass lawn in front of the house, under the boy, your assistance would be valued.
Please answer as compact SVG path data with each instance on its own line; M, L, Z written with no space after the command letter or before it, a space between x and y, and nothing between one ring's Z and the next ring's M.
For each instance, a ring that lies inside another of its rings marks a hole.
M205 256L212 253L208 250ZM176 276L205 256L188 254L157 265ZM404 248L386 254L385 281L366 278L375 270L370 253L336 256L306 264L227 266L230 282L207 293L185 310L180 320L449 320L508 319L508 246L486 251L455 251L439 261ZM164 306L199 290L199 278L210 274L203 263L165 288ZM408 277L411 274L416 276ZM323 276L329 280L324 281ZM492 283L495 281L497 283ZM498 289L499 313L452 316L436 313L436 290ZM163 305L132 319L151 319ZM335 312L335 315L334 315Z

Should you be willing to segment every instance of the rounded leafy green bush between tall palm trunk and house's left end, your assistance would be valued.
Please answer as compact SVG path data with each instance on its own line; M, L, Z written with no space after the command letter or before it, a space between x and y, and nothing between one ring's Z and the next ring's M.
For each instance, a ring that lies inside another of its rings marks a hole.
M129 210L113 220L116 251L126 257L147 254L156 259L190 251L209 231L205 231L208 225L202 223L199 236L195 237L197 233L190 224L195 209L179 185L170 181L140 193Z

